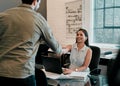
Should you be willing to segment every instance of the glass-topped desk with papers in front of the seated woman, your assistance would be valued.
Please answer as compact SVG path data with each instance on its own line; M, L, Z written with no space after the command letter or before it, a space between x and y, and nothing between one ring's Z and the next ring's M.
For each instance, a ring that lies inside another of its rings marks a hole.
M48 78L49 83L52 84L52 82L55 80L60 86L75 86L75 85L84 86L86 79L88 79L88 78L85 78L84 80L81 80L81 79L69 78L66 75L63 75L61 77L60 74L55 74L52 72L45 72L45 74ZM54 83L53 86L56 86L56 83Z

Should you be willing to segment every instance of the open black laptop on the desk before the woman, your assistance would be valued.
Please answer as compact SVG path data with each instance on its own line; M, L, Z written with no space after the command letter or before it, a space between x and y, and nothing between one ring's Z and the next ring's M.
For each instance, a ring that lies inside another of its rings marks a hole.
M45 71L62 74L61 59L42 55Z

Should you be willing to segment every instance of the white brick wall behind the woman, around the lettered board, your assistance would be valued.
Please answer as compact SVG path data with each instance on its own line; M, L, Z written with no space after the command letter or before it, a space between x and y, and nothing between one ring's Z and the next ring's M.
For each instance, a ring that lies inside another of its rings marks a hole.
M66 38L66 14L65 14L65 3L76 0L47 0L47 20L52 27L53 34L60 44L73 44L75 38ZM90 1L83 0L83 18L82 27L90 31Z

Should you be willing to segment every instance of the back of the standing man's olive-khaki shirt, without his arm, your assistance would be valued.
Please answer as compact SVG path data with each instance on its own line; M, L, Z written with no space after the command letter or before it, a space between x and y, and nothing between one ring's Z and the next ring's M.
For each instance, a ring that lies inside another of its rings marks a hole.
M0 59L2 60L0 70L8 70L7 73L1 71L0 75L7 76L6 74L9 73L11 77L26 77L29 75L27 73L29 70L31 75L34 74L33 59L39 46L40 28L44 28L43 25L41 27L39 25L42 23L44 23L43 17L27 5L9 9L0 15ZM32 66L27 66L28 64ZM26 70L22 65L26 65ZM26 74L21 75L21 71L22 73L26 71Z

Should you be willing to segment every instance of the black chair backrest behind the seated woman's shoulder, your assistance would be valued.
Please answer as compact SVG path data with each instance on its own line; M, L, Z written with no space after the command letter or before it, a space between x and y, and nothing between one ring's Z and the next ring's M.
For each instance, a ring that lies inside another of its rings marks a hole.
M92 49L92 59L90 62L90 71L98 68L99 65L99 61L100 61L100 48L97 46L90 46L90 48Z

